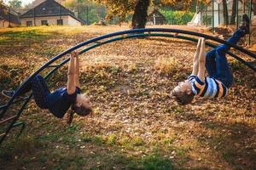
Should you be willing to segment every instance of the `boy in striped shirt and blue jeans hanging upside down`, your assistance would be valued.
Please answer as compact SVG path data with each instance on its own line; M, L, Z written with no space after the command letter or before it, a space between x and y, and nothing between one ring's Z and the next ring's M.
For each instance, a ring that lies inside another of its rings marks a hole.
M241 37L249 33L249 18L242 15L241 26L227 42L236 44ZM205 39L200 38L193 59L193 71L187 80L179 82L172 90L172 96L180 105L189 104L194 96L206 99L220 98L228 94L233 83L233 75L225 54L230 47L222 44L211 51L205 52ZM207 69L208 77L205 77Z

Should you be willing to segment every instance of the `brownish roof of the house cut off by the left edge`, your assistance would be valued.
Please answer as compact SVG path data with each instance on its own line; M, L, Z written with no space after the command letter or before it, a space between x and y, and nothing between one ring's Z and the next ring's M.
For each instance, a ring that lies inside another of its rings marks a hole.
M0 19L8 20L14 24L20 25L20 19L18 14L12 8L7 8L3 5L0 6Z

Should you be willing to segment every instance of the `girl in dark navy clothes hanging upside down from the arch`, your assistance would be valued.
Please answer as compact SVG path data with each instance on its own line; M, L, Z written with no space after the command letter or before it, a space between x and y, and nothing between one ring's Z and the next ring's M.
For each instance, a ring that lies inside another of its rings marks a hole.
M70 107L79 116L87 116L92 112L90 99L84 94L80 94L79 54L77 52L70 54L67 88L58 88L50 93L44 77L36 76L26 87L21 89L18 95L26 94L30 90L32 90L36 104L41 109L48 109L58 118L62 118ZM12 97L15 91L3 90L2 94Z

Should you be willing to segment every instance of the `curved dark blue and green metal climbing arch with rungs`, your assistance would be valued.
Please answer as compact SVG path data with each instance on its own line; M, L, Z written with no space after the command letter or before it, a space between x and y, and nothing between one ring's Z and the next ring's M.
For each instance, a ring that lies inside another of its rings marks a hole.
M175 33L175 34L173 34ZM176 35L182 34L182 35ZM190 37L184 36L184 35L189 35ZM166 28L148 28L148 29L135 29L135 30L128 30L128 31L119 31L119 32L114 32L110 34L103 35L101 37L95 37L92 38L88 41L81 42L78 45L74 46L73 48L69 48L66 51L62 52L61 54L55 55L52 59L50 59L47 63L45 63L43 66L41 66L37 71L32 73L30 77L26 79L25 82L23 82L20 87L16 90L15 94L11 99L9 99L9 102L6 105L0 106L0 129L3 127L2 125L4 123L9 122L8 126L4 127L3 133L0 133L0 144L3 142L3 139L6 138L6 136L9 134L11 129L13 127L20 127L20 133L25 127L25 122L19 122L19 117L26 109L26 105L28 104L29 100L32 98L32 94L27 96L24 99L17 99L18 94L20 93L20 89L24 86L26 86L27 83L29 83L33 77L37 76L38 74L42 73L45 71L47 68L50 68L51 70L46 74L44 79L49 79L51 75L55 73L59 68L61 68L62 65L65 65L69 59L62 59L63 56L66 54L69 54L73 50L76 50L78 48L82 48L84 46L87 46L83 48L81 51L79 51L79 54L83 54L87 51L89 51L92 48L96 48L99 46L102 46L103 44L109 43L109 42L115 42L119 40L124 40L128 38L136 38L136 37L175 37L175 38L180 38L184 40L189 40L192 42L197 42L198 39L194 37L205 37L207 40L212 40L213 42L219 42L219 43L224 43L231 48L235 48L236 50L239 50L242 54L247 54L249 59L256 59L256 54L253 54L252 52L241 48L240 46L231 44L230 42L226 42L224 40L218 39L217 37L212 37L206 34L201 34L195 31L184 31L184 30L178 30L178 29L166 29ZM209 47L216 47L215 44L211 42L206 42L206 45ZM239 60L242 64L247 65L250 69L253 71L256 71L255 65L253 65L251 62L241 59L238 57L236 54L233 54L231 52L228 52L228 54ZM58 62L57 65L53 65L55 62ZM8 116L7 111L9 111L10 107L14 105L15 103L22 102L22 105L18 108L15 109L15 115L14 116ZM4 116L4 118L3 118ZM2 126L2 127L1 127ZM19 134L20 134L19 133Z

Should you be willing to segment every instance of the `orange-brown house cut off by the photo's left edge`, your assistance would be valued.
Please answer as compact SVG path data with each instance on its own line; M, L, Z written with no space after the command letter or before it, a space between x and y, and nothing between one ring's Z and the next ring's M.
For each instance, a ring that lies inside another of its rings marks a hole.
M12 8L0 5L0 27L20 26L19 14Z

